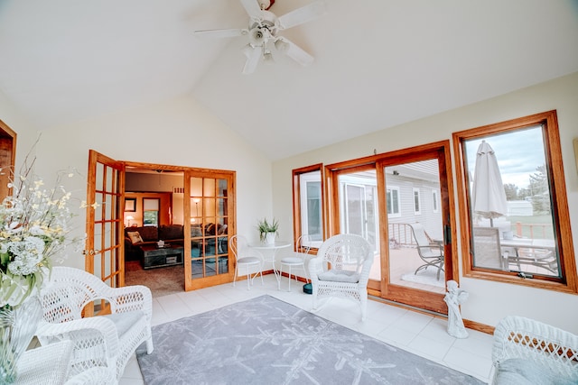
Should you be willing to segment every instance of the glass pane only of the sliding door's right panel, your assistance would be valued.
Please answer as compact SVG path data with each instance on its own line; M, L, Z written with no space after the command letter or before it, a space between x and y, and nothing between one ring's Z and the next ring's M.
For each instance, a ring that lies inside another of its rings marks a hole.
M433 201L440 194L438 160L384 168L389 237L388 281L444 293L443 218Z

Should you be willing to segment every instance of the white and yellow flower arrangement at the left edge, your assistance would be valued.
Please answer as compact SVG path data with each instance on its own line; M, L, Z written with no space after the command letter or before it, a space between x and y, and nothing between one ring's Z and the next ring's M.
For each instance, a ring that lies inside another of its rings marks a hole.
M52 262L80 241L70 238L71 194L61 186L61 178L74 173L59 174L55 187L46 189L26 161L23 170L0 204L0 308L22 305L41 288Z

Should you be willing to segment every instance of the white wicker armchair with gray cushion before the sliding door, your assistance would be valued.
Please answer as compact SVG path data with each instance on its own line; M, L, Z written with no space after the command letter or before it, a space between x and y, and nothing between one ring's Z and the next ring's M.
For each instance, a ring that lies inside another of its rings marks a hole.
M359 302L365 320L373 259L371 245L359 235L338 234L323 242L317 257L309 261L313 310L320 298L350 298Z

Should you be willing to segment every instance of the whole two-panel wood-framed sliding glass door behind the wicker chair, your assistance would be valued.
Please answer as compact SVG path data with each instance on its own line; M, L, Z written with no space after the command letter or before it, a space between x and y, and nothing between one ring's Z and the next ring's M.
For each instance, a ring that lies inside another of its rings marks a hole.
M359 234L376 252L371 294L447 314L445 281L457 277L449 159L449 142L437 142L327 166L331 233ZM424 228L442 263L421 258L427 248L418 249L414 228Z

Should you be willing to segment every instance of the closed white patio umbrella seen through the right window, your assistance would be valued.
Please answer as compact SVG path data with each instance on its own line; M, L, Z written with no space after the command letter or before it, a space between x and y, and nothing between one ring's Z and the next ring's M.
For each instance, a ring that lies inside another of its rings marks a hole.
M506 191L499 173L496 154L486 141L478 147L473 185L471 187L471 209L484 218L493 219L508 213Z

